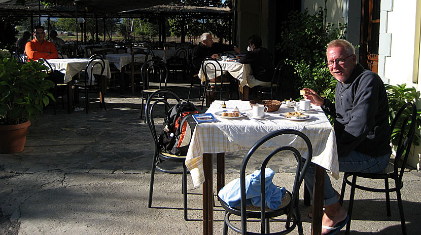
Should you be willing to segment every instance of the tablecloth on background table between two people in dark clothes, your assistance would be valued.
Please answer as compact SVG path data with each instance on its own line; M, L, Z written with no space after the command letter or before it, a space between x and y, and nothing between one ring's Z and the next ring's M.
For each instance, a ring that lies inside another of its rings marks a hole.
M226 72L228 72L235 79L240 81L240 85L242 87L243 86L249 86L249 84L247 83L247 77L253 76L253 75L251 75L252 74L252 67L250 66L250 64L241 64L241 63L238 63L238 62L223 61L223 60L218 60L218 62L221 64L221 67L222 67L222 70L223 70L222 74L225 74ZM219 71L220 70L219 65L215 61L206 61L205 63L215 64L216 68L217 68L217 76L221 75L221 71ZM208 65L206 69L207 69L207 76L209 77L209 79L214 79L215 78L214 66ZM202 69L199 70L199 79L202 82L204 82L206 80L205 74L203 73ZM254 79L254 77L253 77L253 79Z

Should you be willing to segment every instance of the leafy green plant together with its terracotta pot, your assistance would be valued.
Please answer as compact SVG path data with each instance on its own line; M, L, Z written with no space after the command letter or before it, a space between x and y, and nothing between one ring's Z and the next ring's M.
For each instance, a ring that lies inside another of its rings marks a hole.
M54 83L45 78L41 61L19 63L7 50L0 50L0 152L23 150L29 119L42 113L54 96Z

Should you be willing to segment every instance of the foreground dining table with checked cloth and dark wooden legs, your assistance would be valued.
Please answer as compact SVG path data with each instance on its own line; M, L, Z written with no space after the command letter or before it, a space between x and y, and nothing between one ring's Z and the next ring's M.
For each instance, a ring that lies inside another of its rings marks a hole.
M222 107L225 102L226 107ZM226 119L217 115L218 111L233 110L235 107L245 116ZM213 234L213 154L217 154L217 191L225 185L225 152L249 149L261 137L281 129L301 131L310 139L313 147L311 162L315 164L313 188L312 234L321 234L323 216L324 172L329 170L334 178L339 178L338 155L335 132L323 110L312 106L306 120L287 119L281 114L294 111L294 105L283 104L277 111L266 112L264 118L251 117L249 101L216 100L205 113L213 113L218 122L200 123L191 137L185 164L190 171L193 184L203 189L203 234ZM292 145L306 156L305 143L295 138L279 138L272 146Z

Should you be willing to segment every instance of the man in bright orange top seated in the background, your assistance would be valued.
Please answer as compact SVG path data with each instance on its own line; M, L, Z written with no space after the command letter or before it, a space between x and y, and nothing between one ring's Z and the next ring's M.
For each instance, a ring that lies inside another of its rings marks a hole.
M44 40L44 27L37 25L32 32L34 38L26 43L25 52L29 60L58 59L57 49L52 42Z

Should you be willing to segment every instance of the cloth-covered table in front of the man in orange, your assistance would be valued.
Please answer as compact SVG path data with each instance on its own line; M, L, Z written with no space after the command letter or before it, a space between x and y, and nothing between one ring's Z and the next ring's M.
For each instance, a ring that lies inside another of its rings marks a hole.
M91 59L88 58L65 58L65 59L49 59L47 60L48 63L51 64L51 67L54 70L58 70L62 73L64 73L64 79L63 83L67 84L68 86L68 100L67 100L67 107L68 112L71 112L70 107L73 107L73 98L72 98L72 81L73 77L77 75L80 71L84 70L86 68L86 65L89 63ZM93 74L98 74L100 76L100 83L101 83L101 91L100 91L100 101L102 102L103 94L105 93L105 80L104 77L107 77L108 79L111 78L111 71L109 66L109 61L104 60L105 62L105 68L102 74L101 69L99 66L95 66L93 69ZM95 75L92 79L95 79Z

